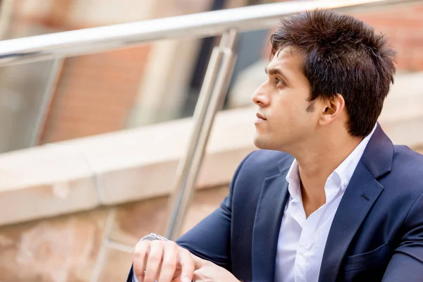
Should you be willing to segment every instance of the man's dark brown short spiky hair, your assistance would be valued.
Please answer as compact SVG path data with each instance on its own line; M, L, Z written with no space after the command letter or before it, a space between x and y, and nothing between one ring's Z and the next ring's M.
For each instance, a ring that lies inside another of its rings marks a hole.
M368 135L381 114L396 68L395 51L373 27L353 16L314 10L281 20L271 54L296 47L312 86L309 101L341 94L351 135Z

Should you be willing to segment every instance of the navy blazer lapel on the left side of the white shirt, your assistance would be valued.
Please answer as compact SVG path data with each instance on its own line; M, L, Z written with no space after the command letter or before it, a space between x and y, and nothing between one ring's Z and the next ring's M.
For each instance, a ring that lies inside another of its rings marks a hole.
M278 234L288 200L286 172L264 180L252 234L252 280L274 281Z

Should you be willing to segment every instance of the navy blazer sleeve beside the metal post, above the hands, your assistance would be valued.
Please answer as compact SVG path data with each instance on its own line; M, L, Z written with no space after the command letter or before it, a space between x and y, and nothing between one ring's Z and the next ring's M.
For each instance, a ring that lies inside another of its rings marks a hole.
M221 202L220 207L176 241L180 247L189 250L193 255L213 262L229 271L231 271L233 190L235 189L240 171L242 171L245 161L251 154L236 169L229 193L223 202Z

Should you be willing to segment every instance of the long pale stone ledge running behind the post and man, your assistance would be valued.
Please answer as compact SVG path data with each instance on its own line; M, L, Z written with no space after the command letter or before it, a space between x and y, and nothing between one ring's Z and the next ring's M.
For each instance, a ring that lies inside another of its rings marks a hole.
M396 84L379 120L397 144L423 145L423 91L410 88L420 78ZM218 114L198 188L227 185L255 149L255 112ZM1 154L0 226L167 195L191 128L187 118Z

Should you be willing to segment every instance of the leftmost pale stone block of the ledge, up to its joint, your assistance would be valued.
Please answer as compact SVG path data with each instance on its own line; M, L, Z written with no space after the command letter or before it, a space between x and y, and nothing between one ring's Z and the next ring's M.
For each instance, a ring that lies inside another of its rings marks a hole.
M85 162L59 147L0 155L0 225L98 205Z

